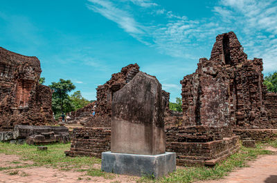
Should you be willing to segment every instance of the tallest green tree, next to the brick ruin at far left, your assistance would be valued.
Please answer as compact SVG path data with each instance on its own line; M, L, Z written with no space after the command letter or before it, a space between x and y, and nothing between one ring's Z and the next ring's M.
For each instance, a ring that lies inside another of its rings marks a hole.
M70 80L60 79L57 83L52 82L49 87L53 90L52 109L56 115L74 110L72 100L68 93L74 90L75 86Z

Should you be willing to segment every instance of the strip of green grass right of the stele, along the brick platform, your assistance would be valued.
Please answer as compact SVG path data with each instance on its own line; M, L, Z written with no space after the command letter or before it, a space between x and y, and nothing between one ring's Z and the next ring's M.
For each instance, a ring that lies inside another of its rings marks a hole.
M271 151L262 150L260 144L257 148L241 147L238 153L228 157L225 161L214 167L185 167L178 168L167 177L153 180L152 177L141 177L138 182L195 182L199 180L216 180L228 175L233 169L247 166L249 160L254 160L258 155L269 155Z

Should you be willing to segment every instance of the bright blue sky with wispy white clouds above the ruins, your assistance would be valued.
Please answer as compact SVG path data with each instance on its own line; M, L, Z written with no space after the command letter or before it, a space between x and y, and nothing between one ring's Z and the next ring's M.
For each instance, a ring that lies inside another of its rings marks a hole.
M210 58L216 35L234 31L244 52L277 70L277 1L2 0L0 46L41 61L46 85L71 79L87 99L120 68L137 63L170 101L179 81Z

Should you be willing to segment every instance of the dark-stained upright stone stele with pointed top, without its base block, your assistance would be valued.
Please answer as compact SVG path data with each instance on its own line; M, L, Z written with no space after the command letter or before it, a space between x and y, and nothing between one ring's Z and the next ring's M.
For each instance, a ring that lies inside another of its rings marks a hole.
M157 155L166 152L161 84L143 72L114 93L111 152Z

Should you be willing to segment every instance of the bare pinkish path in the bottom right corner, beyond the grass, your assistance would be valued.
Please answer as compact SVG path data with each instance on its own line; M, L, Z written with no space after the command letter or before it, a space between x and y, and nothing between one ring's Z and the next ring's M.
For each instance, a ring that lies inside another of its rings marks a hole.
M277 152L276 148L267 147ZM199 183L277 183L277 155L265 155L250 162L249 167L239 168L222 180L211 180Z

